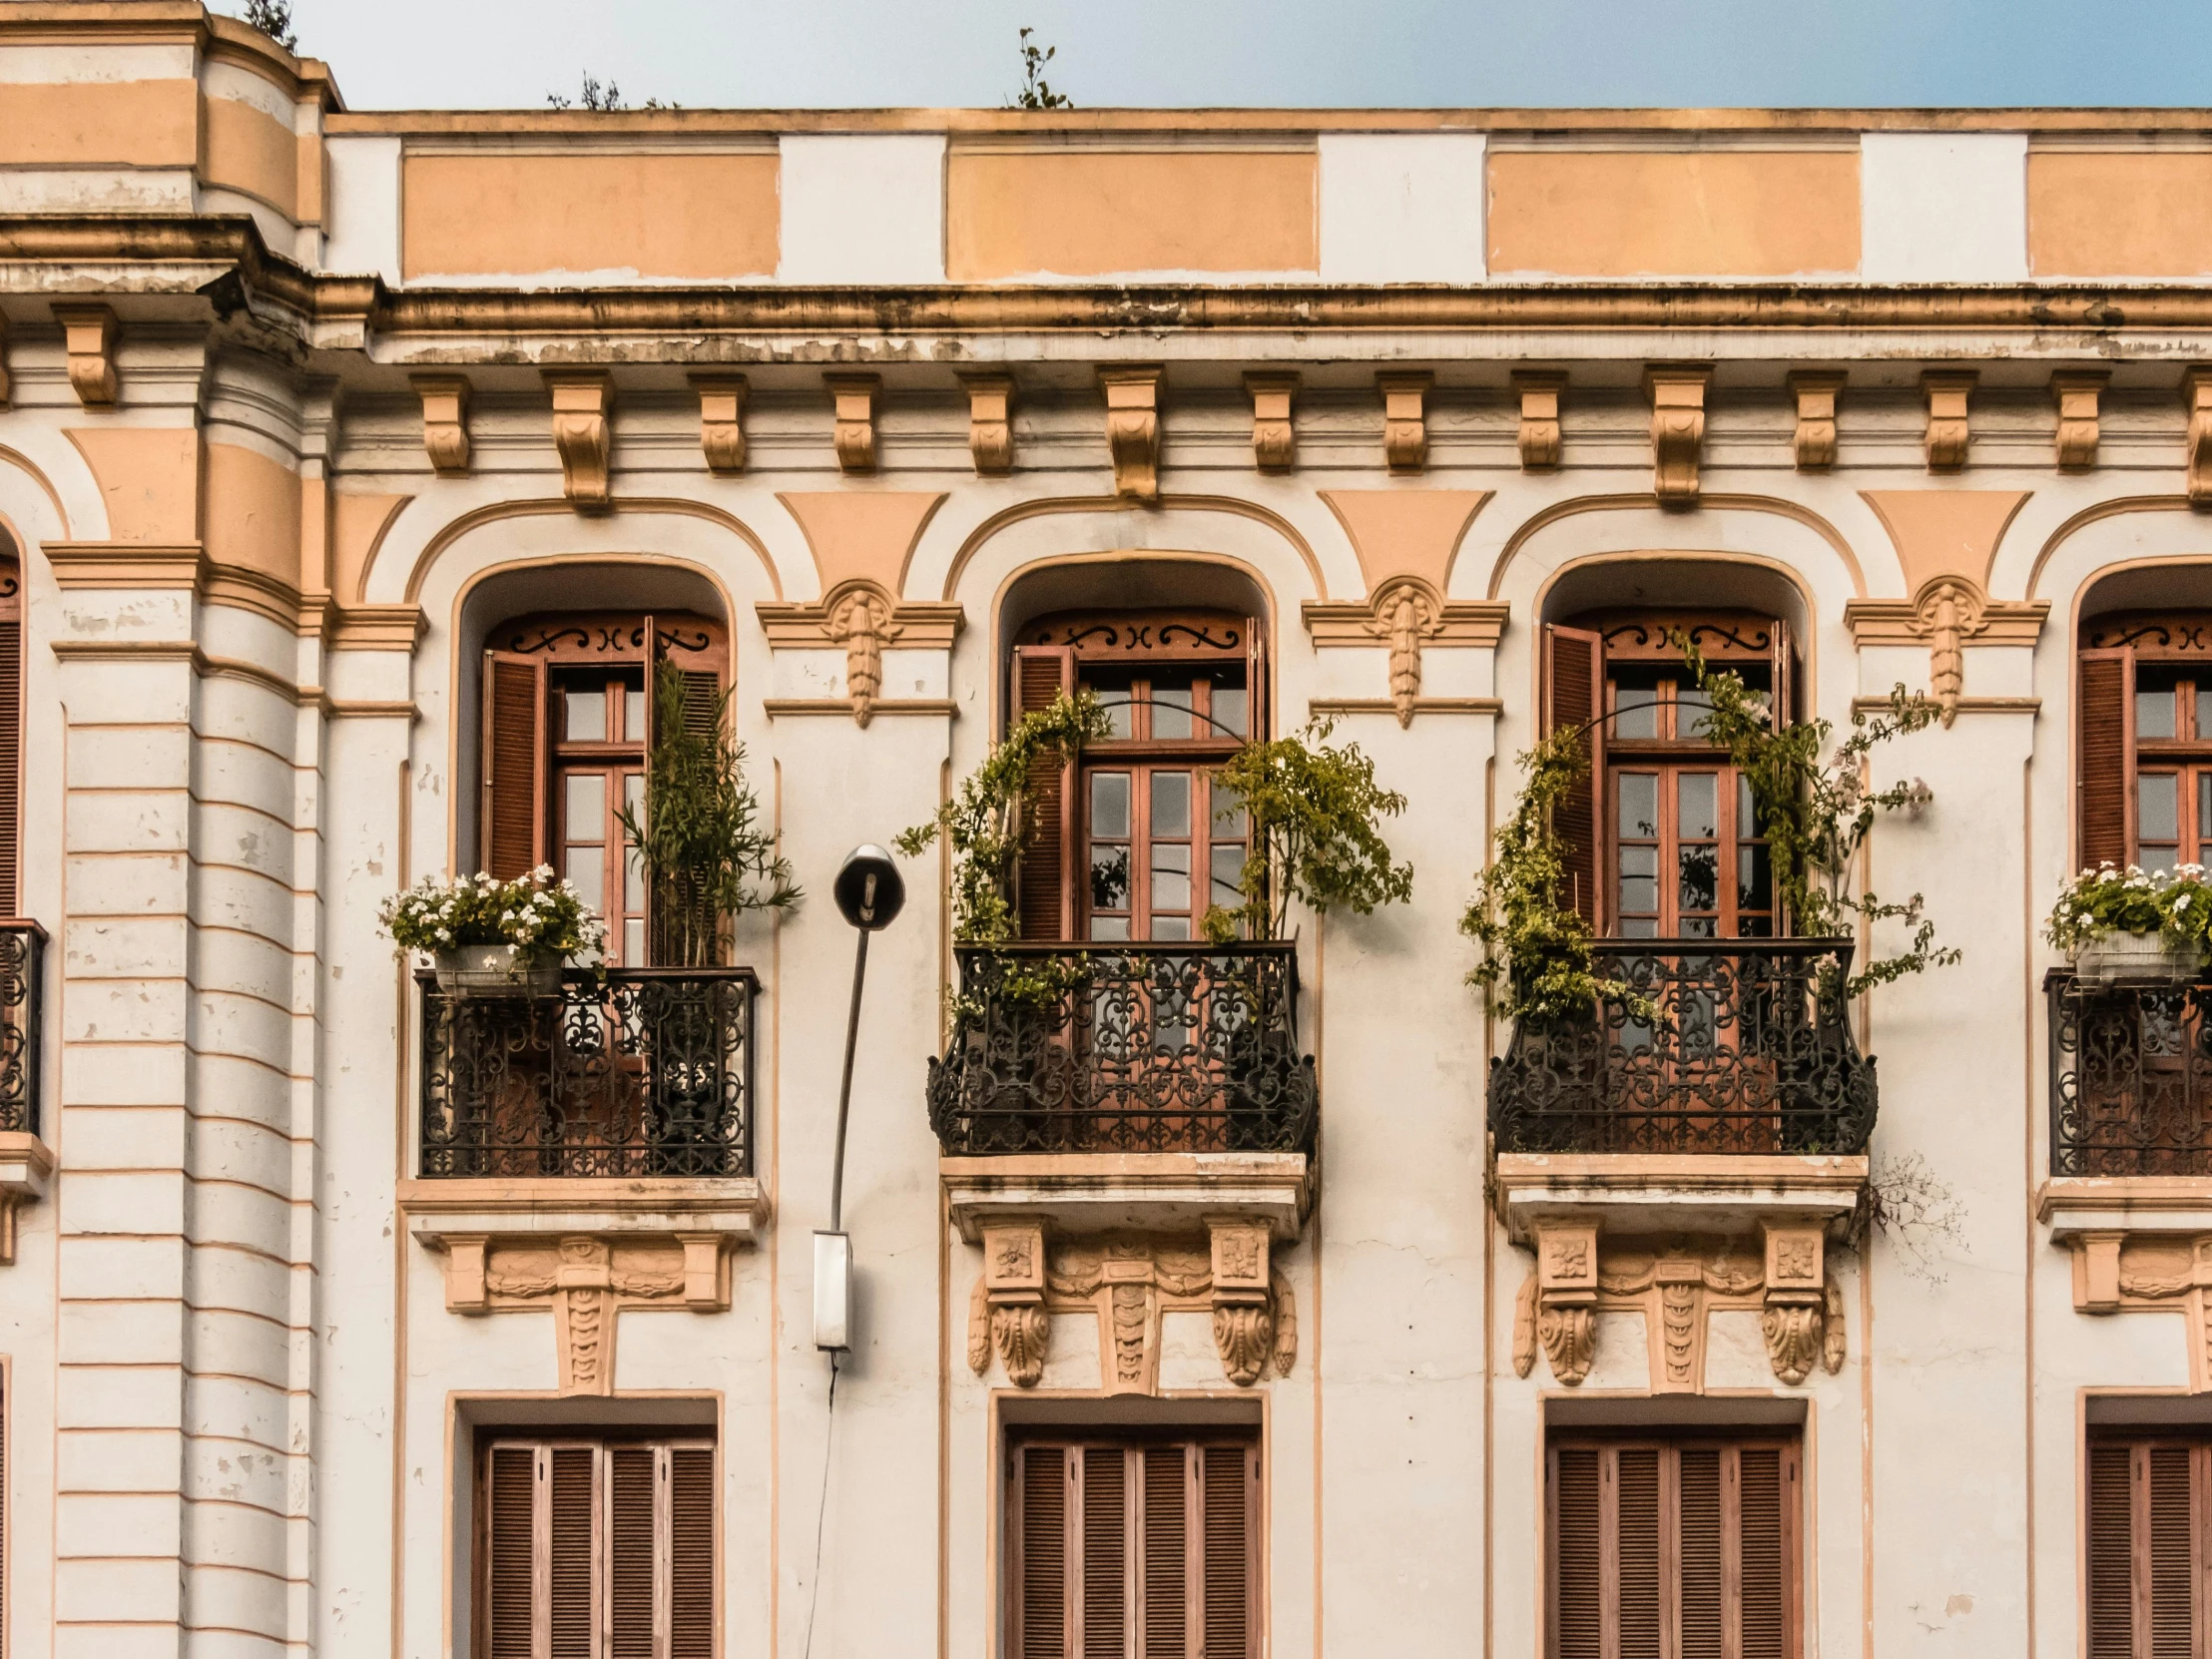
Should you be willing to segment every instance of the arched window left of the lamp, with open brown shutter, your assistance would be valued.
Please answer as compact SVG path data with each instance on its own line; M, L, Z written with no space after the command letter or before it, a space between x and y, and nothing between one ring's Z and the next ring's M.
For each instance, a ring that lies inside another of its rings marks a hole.
M480 863L500 878L553 865L608 925L608 962L661 956L617 814L644 801L653 675L684 675L684 719L712 721L728 635L706 617L531 615L484 646Z

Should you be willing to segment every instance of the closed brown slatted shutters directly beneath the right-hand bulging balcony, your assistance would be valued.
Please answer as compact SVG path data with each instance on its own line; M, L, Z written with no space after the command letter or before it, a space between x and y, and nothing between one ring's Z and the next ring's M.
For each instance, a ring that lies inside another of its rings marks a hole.
M1555 1431L1546 1659L1798 1659L1796 1433Z

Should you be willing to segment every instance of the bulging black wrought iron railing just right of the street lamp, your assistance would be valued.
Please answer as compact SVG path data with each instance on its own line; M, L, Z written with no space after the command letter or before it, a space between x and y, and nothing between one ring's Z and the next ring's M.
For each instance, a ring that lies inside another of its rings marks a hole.
M960 949L929 1126L969 1152L1305 1152L1298 953L1267 945Z

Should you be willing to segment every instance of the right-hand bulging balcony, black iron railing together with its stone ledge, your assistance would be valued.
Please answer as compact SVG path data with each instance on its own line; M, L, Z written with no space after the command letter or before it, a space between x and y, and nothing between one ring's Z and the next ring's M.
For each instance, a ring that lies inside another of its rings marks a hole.
M1847 1214L1865 1186L1874 1060L1858 1053L1838 940L1599 940L1624 1002L1522 1020L1491 1062L1498 1199L1515 1237L1750 1230Z

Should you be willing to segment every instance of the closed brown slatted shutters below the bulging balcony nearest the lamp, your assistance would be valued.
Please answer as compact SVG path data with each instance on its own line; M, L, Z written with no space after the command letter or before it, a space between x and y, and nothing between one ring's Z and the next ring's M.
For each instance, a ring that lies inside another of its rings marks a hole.
M1002 1652L1256 1659L1254 1431L1037 1429L1004 1469Z

